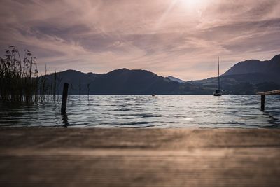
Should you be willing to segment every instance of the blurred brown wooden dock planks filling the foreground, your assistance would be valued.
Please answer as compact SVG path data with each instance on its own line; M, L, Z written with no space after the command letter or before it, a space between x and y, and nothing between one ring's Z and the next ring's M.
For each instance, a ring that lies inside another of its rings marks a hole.
M0 186L280 186L280 130L0 128Z

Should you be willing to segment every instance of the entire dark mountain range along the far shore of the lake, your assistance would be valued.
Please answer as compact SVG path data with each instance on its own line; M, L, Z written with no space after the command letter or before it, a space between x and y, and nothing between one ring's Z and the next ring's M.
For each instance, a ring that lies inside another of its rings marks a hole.
M254 94L280 89L280 55L271 60L238 62L221 76L224 94ZM163 77L141 69L116 69L106 74L66 70L46 75L48 82L58 80L57 90L62 93L63 83L69 83L70 95L179 95L212 94L218 78L182 81L173 76Z

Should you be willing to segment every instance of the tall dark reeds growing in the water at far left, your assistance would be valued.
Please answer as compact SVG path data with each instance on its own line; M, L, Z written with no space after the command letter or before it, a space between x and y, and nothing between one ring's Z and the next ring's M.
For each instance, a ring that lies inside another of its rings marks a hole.
M45 76L39 78L36 57L25 50L22 58L15 46L10 46L5 53L0 62L1 101L42 102L50 88Z

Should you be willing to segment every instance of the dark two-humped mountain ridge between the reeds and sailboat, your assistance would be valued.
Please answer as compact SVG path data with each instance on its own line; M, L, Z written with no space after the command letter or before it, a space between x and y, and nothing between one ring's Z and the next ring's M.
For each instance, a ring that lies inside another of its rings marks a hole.
M180 83L158 76L150 71L135 69L116 69L107 74L84 74L67 70L45 76L49 85L57 80L59 94L63 83L69 83L71 95L152 95L180 94Z

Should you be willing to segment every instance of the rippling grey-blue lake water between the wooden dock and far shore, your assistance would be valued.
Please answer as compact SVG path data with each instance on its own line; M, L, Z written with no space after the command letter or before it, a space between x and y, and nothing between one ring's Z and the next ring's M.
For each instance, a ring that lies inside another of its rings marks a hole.
M67 116L59 103L6 106L1 127L280 127L280 97L259 95L92 95L70 96Z

